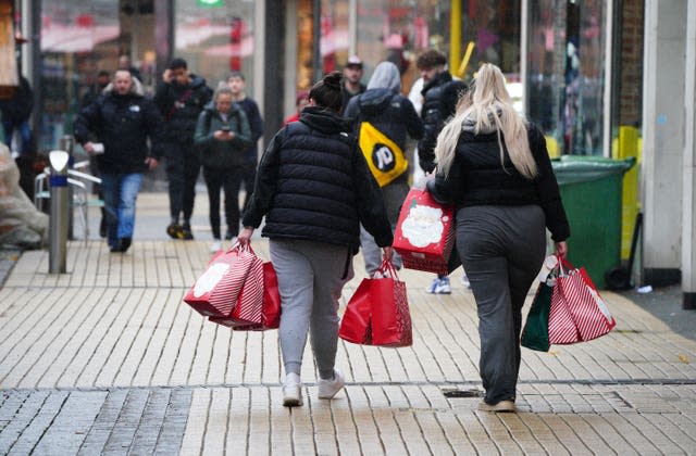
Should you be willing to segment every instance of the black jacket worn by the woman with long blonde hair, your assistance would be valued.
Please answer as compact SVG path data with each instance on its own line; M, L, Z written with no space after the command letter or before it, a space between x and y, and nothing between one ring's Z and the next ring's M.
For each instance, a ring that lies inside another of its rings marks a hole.
M505 148L505 138L500 135ZM427 189L440 203L456 203L457 208L478 205L519 206L536 204L544 210L546 226L556 242L570 236L570 226L561 202L556 175L546 150L544 135L533 125L527 128L530 149L538 175L523 177L512 165L505 148L505 167L500 164L498 135L462 131L455 161L447 177L437 174Z

